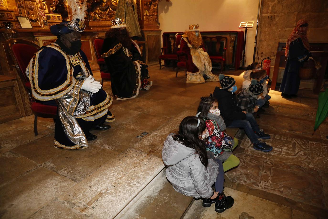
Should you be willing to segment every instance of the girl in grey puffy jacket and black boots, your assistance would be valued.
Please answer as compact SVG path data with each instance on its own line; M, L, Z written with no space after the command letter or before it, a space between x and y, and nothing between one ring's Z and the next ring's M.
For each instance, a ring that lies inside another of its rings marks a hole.
M204 120L195 116L184 118L177 134L171 133L164 142L162 159L167 166L166 177L175 191L203 199L203 206L215 203L222 212L233 205L232 197L223 193L223 167L220 161L207 157L205 143L208 137ZM220 171L219 171L219 164ZM212 185L215 182L215 192ZM218 209L218 210L217 210Z

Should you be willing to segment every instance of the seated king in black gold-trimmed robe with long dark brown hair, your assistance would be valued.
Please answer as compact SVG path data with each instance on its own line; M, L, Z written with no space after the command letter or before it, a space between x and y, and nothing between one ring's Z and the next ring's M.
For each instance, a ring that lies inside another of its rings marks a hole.
M101 49L117 100L136 98L139 90L148 91L153 85L153 81L148 81L148 65L143 62L139 46L130 38L126 27L123 19L113 19Z

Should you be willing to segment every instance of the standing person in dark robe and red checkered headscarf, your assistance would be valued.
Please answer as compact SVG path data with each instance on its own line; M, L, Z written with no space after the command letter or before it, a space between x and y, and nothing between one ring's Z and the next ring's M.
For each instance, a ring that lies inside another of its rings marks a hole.
M284 98L297 96L300 84L299 70L304 61L312 58L310 43L307 38L308 26L306 20L299 20L286 42L285 56L287 63L279 89L281 96Z

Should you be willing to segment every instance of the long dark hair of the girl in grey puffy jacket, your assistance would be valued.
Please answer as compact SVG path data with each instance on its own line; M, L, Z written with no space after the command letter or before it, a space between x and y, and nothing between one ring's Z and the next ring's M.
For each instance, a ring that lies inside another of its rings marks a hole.
M208 158L206 153L205 142L199 139L199 135L202 135L206 128L205 121L195 116L188 116L184 118L179 126L179 131L173 136L175 141L181 142L183 145L193 148L199 156L200 162L207 167Z

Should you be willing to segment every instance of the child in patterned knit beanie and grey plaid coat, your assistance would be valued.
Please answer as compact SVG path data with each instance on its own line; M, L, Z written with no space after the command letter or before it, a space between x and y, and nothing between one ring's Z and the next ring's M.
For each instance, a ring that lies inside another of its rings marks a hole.
M237 95L237 106L246 113L256 113L259 109L259 106L256 105L257 98L262 93L263 86L253 79L250 86Z

